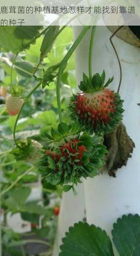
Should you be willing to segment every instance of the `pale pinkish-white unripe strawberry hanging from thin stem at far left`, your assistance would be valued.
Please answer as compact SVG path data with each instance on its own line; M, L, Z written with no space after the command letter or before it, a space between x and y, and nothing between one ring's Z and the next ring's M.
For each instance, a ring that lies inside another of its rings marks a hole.
M10 116L16 116L23 104L24 100L16 96L9 95L6 97L6 109Z

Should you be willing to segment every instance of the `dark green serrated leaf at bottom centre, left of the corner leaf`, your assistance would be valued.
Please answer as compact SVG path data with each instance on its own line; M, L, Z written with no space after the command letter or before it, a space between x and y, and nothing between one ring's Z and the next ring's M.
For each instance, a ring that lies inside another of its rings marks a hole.
M106 232L94 225L76 223L62 239L59 256L114 256L112 243Z

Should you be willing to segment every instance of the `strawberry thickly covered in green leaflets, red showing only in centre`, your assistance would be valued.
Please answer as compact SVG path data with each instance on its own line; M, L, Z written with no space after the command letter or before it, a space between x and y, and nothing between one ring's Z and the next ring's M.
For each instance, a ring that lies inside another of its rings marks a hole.
M81 183L81 177L94 177L104 164L106 147L101 137L91 137L76 131L76 123L69 128L65 123L52 129L50 145L44 148L39 171L48 183L64 185ZM53 137L54 135L54 137ZM70 186L71 188L72 186Z

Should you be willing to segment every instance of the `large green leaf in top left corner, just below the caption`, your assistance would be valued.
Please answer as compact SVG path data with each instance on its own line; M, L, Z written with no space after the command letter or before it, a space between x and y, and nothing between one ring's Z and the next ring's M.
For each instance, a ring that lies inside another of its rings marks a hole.
M35 44L42 26L0 26L0 47L17 54Z

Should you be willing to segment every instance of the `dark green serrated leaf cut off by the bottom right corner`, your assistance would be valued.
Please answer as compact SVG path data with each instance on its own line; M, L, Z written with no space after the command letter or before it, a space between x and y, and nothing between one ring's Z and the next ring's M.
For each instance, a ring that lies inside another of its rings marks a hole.
M140 255L140 216L129 214L118 218L112 236L120 256Z

